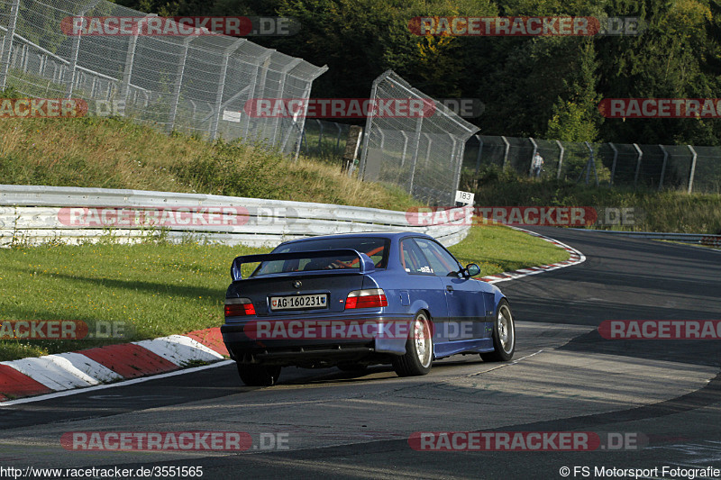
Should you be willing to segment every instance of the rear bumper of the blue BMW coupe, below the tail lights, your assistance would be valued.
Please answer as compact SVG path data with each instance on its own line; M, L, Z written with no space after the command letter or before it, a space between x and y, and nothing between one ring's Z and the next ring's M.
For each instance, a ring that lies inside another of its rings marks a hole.
M404 325L410 324L413 319L408 317L377 316L377 317L344 317L334 319L322 319L322 322L346 322L356 323ZM303 326L313 322L320 323L318 318L253 318L245 322L226 323L221 327L225 347L231 354L231 358L241 363L272 363L278 365L297 366L325 366L337 365L343 362L368 361L370 363L383 363L381 360L388 359L390 355L403 355L406 353L407 337L398 334L377 335L372 329L365 331L356 330L360 335L337 336L337 335L301 335L300 338L288 338L287 335L272 335L272 327L260 334L258 325L260 322L288 322L295 323L293 332L303 332ZM264 325L268 327L268 324ZM330 327L329 327L330 328ZM286 333L285 330L281 333ZM315 330L318 331L317 329ZM382 331L382 330L381 330ZM278 333L278 331L275 331ZM306 331L307 332L307 331ZM330 332L330 330L328 331ZM297 335L293 334L294 337ZM397 333L397 331L394 331ZM316 337L316 338L311 338ZM317 338L319 337L319 338Z

